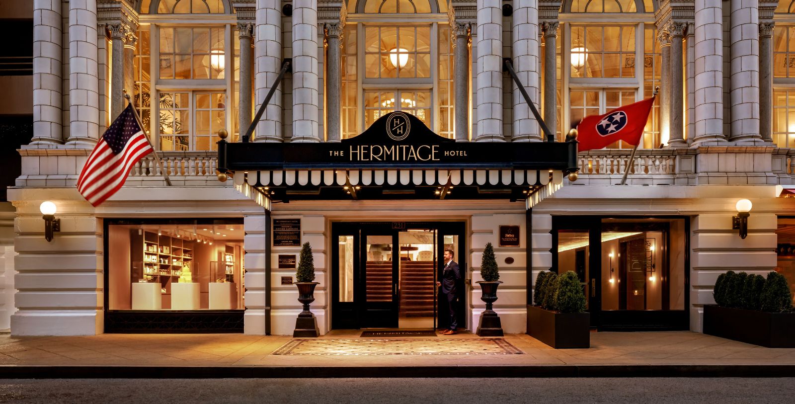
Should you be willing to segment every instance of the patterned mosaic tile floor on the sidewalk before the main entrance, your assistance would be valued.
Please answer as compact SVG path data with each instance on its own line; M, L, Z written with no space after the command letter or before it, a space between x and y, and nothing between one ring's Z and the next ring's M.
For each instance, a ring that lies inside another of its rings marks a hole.
M324 340L297 339L278 348L273 355L522 355L502 338L460 340Z

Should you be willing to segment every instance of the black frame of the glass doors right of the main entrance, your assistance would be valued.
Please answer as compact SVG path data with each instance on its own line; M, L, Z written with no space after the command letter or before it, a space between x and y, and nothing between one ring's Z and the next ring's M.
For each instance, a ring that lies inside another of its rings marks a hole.
M588 257L588 312L591 328L599 331L676 331L690 327L690 216L553 216L552 268L558 268L558 231L588 231L588 243L602 243L603 219L684 219L684 309L682 310L602 310L602 251L591 248ZM670 244L670 231L666 243ZM667 282L667 280L665 280ZM668 286L667 284L665 286Z

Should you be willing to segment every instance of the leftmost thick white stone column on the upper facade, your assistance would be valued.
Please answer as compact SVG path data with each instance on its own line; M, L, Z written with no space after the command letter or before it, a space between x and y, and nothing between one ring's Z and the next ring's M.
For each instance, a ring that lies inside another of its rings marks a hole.
M64 141L61 116L60 0L33 1L33 140L31 145Z

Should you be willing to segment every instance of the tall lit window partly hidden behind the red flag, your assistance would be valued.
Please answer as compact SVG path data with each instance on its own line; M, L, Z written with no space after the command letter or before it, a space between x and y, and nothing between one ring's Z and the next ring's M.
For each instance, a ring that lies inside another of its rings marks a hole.
M604 114L652 95L661 76L653 10L651 0L564 2L557 41L558 57L564 61L558 62L558 97L564 106L558 118L558 138L585 116ZM606 22L614 20L605 14L616 14L616 22ZM654 148L665 142L657 102L641 147ZM630 147L617 142L608 148Z

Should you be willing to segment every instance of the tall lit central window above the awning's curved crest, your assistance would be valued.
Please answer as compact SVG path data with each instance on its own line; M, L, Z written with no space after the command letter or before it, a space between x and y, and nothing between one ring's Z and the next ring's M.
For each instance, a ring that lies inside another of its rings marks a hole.
M443 9L429 0L359 2L343 33L343 138L392 111L455 136L452 40L446 19L440 22Z

